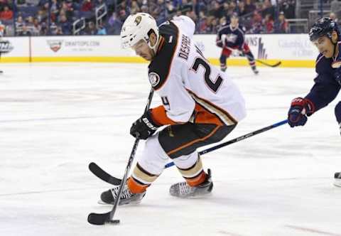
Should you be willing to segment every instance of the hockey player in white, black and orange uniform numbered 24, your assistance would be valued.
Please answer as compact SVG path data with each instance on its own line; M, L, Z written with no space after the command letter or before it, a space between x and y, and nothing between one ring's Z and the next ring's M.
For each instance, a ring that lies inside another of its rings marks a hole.
M170 159L185 178L171 186L171 195L210 193L210 169L204 171L196 149L224 139L246 115L238 88L205 59L193 42L194 31L195 23L187 16L158 27L145 13L129 16L122 26L123 47L150 61L149 82L163 104L148 109L131 126L130 134L146 139L146 146L119 204L139 203ZM156 132L162 126L167 127ZM114 203L118 189L105 191L101 200Z

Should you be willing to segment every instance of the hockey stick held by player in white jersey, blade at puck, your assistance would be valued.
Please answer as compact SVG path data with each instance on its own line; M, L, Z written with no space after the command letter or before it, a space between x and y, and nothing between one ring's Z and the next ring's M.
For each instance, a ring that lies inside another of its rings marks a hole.
M149 92L149 95L148 95L148 100L147 100L146 108L144 109L144 113L146 113L148 111L148 109L151 105L153 93L154 93L154 90L152 87L151 92ZM114 224L119 223L119 220L114 220L113 218L114 218L114 214L115 214L116 209L117 209L117 205L119 205L121 193L123 191L124 185L126 184L126 178L128 177L128 173L130 171L131 164L134 161L136 149L137 149L137 146L139 146L139 141L140 141L139 136L136 136L135 143L134 143L133 149L131 149L131 154L129 156L128 163L126 163L126 170L124 171L124 176L122 178L121 185L119 186L119 192L117 193L117 198L114 202L114 206L112 207L112 210L109 211L108 213L102 213L102 214L90 213L90 215L88 215L88 217L87 217L87 221L90 222L90 224L92 224L92 225L104 225L105 223L114 223Z

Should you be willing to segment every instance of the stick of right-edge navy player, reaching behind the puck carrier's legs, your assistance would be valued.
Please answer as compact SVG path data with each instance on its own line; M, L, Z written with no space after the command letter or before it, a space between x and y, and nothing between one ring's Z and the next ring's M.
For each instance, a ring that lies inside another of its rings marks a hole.
M235 138L235 139L231 139L231 140L229 140L229 141L225 141L225 142L222 143L222 144L218 144L218 145L216 145L216 146L212 146L212 147L209 148L209 149L205 149L205 150L200 151L199 154L200 154L200 155L207 154L207 153L209 153L209 152L211 152L211 151L215 151L215 150L217 150L217 149L220 149L220 148L222 148L223 146L227 146L227 145L229 145L229 144L234 144L234 143L237 143L238 141L242 141L242 140L244 140L244 139L248 139L248 138L251 137L251 136L254 136L254 135L256 135L256 134L261 134L261 133L263 133L263 132L266 132L266 131L268 131L268 130L270 130L270 129L274 129L274 128L279 127L279 126L281 126L281 125L283 125L283 124L286 124L286 123L288 123L288 120L287 120L287 119L285 119L285 120L283 120L283 121L281 121L281 122L278 122L278 123L276 123L276 124L271 124L271 125L269 125L268 127L264 127L264 128L262 128L262 129L257 129L257 130L254 131L254 132L251 132L251 133L249 133L249 134L244 134L244 135L239 136L239 137L237 137L237 138ZM167 163L167 164L165 165L165 168L169 168L169 167L171 167L171 166L174 166L174 162ZM102 168L100 168L96 163L94 163L94 162L90 163L89 168L90 168L90 171L91 171L92 173L94 173L95 176L97 176L98 178L102 179L102 181L105 181L105 182L107 182L107 183L111 183L111 184L114 185L114 186L118 186L119 184L121 184L121 179L109 175L109 173L107 173L107 172L104 171Z

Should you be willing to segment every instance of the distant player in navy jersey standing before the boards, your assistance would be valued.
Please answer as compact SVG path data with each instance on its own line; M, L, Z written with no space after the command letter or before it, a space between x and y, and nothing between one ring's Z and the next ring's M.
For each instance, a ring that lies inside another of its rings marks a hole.
M237 14L232 14L231 23L220 28L217 34L216 44L222 48L220 55L220 70L226 70L226 60L231 55L232 51L237 50L239 55L245 55L251 69L257 75L256 62L254 55L251 53L249 45L245 42L245 33L242 28L239 28L239 17Z

